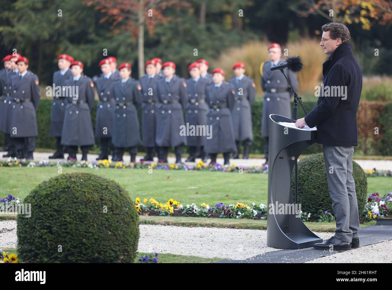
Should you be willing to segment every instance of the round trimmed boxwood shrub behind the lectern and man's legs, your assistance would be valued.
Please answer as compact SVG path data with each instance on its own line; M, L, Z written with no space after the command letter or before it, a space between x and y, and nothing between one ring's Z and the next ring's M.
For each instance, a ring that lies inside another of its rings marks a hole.
M295 199L295 170L291 176L291 190ZM352 162L352 176L358 200L358 213L361 216L366 204L367 177L361 166ZM332 211L332 199L328 192L327 171L323 153L312 154L298 162L298 202L303 212L316 214L319 210Z

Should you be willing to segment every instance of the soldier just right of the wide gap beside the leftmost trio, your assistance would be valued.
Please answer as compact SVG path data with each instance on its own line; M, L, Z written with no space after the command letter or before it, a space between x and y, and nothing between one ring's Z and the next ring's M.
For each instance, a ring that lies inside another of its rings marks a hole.
M54 152L52 156L49 156L49 159L64 159L64 150L63 146L61 145L61 134L63 131L65 107L67 105L65 101L66 95L64 83L66 80L72 77L69 66L73 61L74 58L70 55L65 53L59 55L57 58L59 70L53 73L53 86L55 90L53 92L49 135L56 137L56 152ZM56 89L56 87L59 87L60 89Z

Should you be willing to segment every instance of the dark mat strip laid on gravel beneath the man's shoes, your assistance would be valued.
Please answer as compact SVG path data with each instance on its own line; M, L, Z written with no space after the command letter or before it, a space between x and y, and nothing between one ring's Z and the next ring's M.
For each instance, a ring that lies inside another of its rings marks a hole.
M334 233L331 233L332 235ZM360 228L358 236L360 247L377 244L383 240L392 240L392 225L371 225ZM303 263L345 251L317 250L310 247L299 250L272 251L245 260L222 260L216 263Z

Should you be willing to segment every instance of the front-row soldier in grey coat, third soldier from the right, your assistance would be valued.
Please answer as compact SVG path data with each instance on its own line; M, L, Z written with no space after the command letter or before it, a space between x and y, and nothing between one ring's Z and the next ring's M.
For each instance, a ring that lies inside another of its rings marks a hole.
M225 80L223 69L212 71L214 84L206 88L207 127L212 128L210 139L205 141L205 151L211 156L210 164L216 163L216 155L223 153L224 164L230 164L230 152L236 153L233 122L230 111L234 108L234 88Z

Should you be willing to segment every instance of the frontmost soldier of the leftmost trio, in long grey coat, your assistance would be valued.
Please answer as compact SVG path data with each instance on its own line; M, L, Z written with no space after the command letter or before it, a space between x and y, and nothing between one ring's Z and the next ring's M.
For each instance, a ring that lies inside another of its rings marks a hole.
M40 103L38 77L27 71L29 60L19 57L18 76L12 78L14 104L10 131L15 142L16 158L33 159L35 137L38 135L36 110Z

